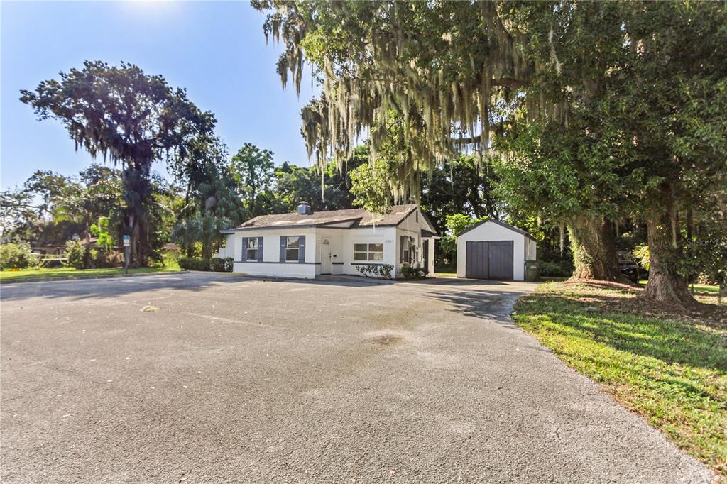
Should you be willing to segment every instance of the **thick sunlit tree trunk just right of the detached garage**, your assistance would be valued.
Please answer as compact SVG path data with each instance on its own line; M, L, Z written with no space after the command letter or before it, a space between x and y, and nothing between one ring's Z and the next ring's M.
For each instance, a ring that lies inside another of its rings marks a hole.
M570 220L568 234L575 265L572 278L628 282L619 271L616 235L610 222L579 215Z

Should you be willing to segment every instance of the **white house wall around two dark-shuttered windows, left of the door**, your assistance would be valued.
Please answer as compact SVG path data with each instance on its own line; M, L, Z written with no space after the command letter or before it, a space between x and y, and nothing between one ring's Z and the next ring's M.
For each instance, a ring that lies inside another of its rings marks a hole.
M281 235L305 235L305 262L280 262ZM241 262L242 238L262 237L262 262ZM276 278L316 277L316 230L312 227L241 230L228 235L225 254L232 257L233 273L261 275ZM231 255L230 255L231 254Z

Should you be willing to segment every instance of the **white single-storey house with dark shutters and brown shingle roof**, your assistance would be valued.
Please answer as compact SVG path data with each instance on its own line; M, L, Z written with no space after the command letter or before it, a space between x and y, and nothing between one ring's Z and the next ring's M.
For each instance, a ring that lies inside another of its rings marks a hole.
M435 227L417 205L396 205L385 215L364 209L261 215L222 230L233 272L264 277L358 275L358 267L391 265L391 277L408 264L434 275Z

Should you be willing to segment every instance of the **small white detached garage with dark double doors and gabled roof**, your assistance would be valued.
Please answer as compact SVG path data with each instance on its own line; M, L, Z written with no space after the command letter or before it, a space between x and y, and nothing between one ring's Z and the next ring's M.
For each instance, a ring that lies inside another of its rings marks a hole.
M457 234L457 277L524 281L525 262L535 260L532 235L488 219Z

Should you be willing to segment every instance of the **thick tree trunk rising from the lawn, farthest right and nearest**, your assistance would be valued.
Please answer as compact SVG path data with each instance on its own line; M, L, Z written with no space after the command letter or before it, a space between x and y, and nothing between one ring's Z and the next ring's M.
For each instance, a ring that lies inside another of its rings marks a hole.
M691 307L697 304L694 297L689 294L686 278L676 273L670 258L675 257L678 249L675 238L676 218L672 211L665 209L654 214L646 222L646 236L648 238L648 283L646 289L640 294L641 299L653 302L666 302Z

